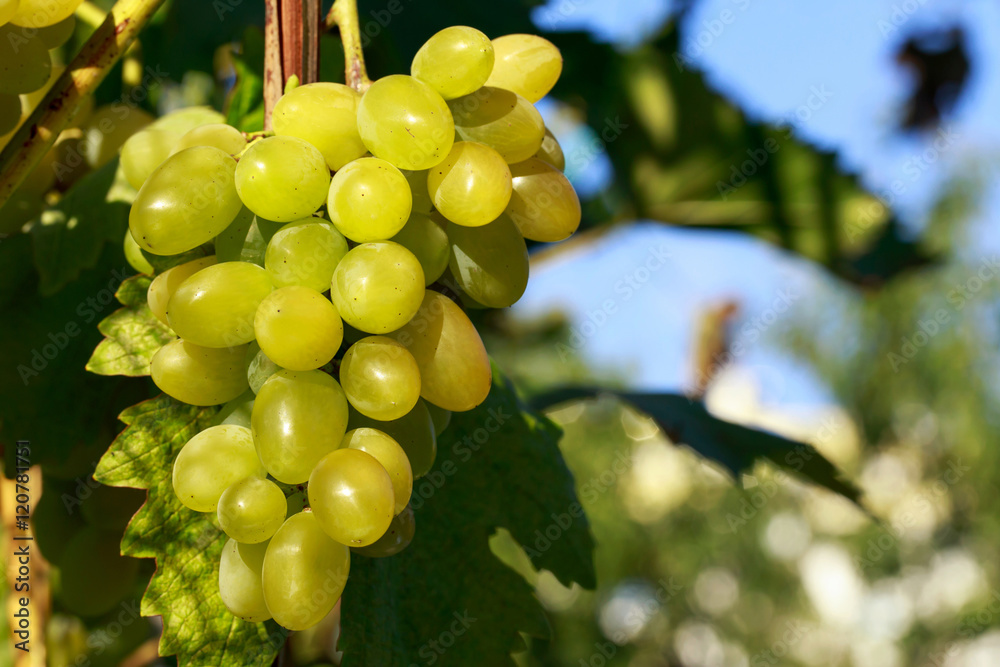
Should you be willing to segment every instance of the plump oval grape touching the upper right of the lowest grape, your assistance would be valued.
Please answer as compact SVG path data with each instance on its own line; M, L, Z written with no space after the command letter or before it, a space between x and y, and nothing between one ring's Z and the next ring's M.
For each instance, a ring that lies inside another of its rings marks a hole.
M338 449L309 476L309 507L323 531L341 544L364 547L392 522L392 479L371 454Z

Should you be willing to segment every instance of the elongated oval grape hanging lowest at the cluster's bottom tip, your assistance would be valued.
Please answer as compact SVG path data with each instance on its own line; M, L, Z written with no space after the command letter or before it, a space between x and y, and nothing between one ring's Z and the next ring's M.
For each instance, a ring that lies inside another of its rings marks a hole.
M323 532L312 512L285 520L267 545L261 581L271 616L289 630L311 628L337 604L351 551Z

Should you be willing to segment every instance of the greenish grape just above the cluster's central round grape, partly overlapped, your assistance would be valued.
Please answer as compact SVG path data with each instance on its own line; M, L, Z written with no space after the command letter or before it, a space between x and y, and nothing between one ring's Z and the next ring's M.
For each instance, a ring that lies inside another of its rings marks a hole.
M271 238L264 268L275 287L301 285L325 292L337 264L347 254L347 239L317 218L289 222Z

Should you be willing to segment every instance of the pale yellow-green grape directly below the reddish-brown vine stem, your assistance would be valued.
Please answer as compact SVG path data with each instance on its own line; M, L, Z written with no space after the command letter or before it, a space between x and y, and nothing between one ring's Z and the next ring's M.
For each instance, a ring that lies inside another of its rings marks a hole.
M340 83L299 86L274 105L274 133L308 141L336 171L368 152L358 134L360 101L357 91Z

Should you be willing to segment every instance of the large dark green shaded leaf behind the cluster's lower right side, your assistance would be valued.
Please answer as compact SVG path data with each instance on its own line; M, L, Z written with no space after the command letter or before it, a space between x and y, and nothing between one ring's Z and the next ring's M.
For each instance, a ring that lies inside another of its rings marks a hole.
M494 378L483 405L452 416L434 468L414 485L412 544L391 558L352 556L344 667L513 665L520 632L548 636L531 586L490 551L499 528L529 547L536 568L595 585L593 538L560 431L525 411L497 369Z

